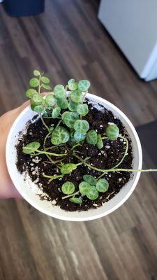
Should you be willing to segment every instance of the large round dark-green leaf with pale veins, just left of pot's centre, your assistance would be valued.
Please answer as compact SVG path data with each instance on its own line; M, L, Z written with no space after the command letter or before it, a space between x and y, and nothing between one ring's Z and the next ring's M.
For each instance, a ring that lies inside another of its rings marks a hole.
M68 130L65 127L56 127L52 132L51 142L54 145L64 144L68 141L70 135Z

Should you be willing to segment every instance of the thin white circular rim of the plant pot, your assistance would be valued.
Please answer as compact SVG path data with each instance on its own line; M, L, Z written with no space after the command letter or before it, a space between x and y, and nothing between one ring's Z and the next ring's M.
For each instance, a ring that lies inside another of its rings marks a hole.
M122 118L121 122L123 123L123 120L126 121L128 127L130 127L130 130L133 132L133 136L135 137L135 141L136 141L136 144L137 144L137 152L138 152L138 155L137 155L137 158L139 159L138 162L137 162L137 169L142 169L142 147L141 147L141 144L140 144L140 139L137 135L137 132L135 130L135 127L133 126L133 124L130 122L130 120L128 119L128 117L120 110L117 108L117 106L115 106L114 104L112 104L111 102L108 102L107 100L103 99L102 97L98 97L96 96L95 94L90 94L88 93L87 94L87 97L89 98L89 100L91 99L96 99L97 102L101 102L107 106L110 107L110 110L112 111L112 109L114 111L116 111ZM48 216L52 216L53 218L58 218L58 219L61 219L63 221L91 221L91 220L94 220L96 218L101 218L103 216L107 216L108 214L112 213L113 211L115 211L116 209L118 209L119 207L121 207L122 204L124 204L124 202L126 202L126 200L128 200L128 197L130 197L130 195L133 193L133 190L135 190L135 187L137 186L137 182L139 181L140 179L140 174L141 172L136 172L136 174L134 174L135 176L135 180L133 181L133 184L132 186L130 187L130 190L128 191L128 193L125 195L125 197L119 201L119 203L117 203L114 207L111 207L109 210L107 211L103 211L101 214L94 214L94 216L85 216L85 217L68 217L68 213L69 211L64 211L63 212L67 212L67 216L61 216L61 215L58 215L58 214L55 214L55 210L54 212L52 211L52 213L48 213L47 210L43 209L42 207L39 207L38 204L36 204L36 202L32 202L31 199L29 199L29 197L27 197L27 195L25 195L23 192L22 192L22 189L20 188L20 186L17 185L16 183L16 178L15 176L13 175L12 173L12 167L10 166L10 141L11 141L11 138L12 138L12 134L15 130L15 127L17 125L17 123L20 122L20 120L22 119L22 117L24 116L25 113L27 113L27 111L29 111L29 108L30 106L27 106L27 108L25 108L21 113L20 115L15 119L15 122L13 123L11 129L10 129L10 132L8 134L8 138L7 138L7 142L6 142L6 164L7 164L7 167L8 167L8 173L10 174L10 178L11 180L13 181L14 185L15 185L15 188L17 188L18 192L22 195L22 197L24 197L24 200L27 200L27 202L29 202L29 204L31 204L34 208L38 209L38 211L44 213L44 214L47 214ZM125 126L125 125L124 125ZM129 134L129 133L128 133ZM134 154L133 154L134 155ZM130 179L131 181L132 179ZM129 181L129 182L130 182ZM125 185L124 185L125 186ZM124 188L123 186L123 188ZM123 189L121 188L121 190ZM120 191L121 191L120 190ZM120 192L119 192L120 193ZM117 194L118 195L118 194ZM116 197L117 195L115 195L114 197ZM112 200L112 199L111 199ZM110 201L111 201L110 200ZM107 203L107 202L105 202ZM54 205L55 207L55 205ZM100 209L102 208L103 206L101 207L98 207L97 209ZM53 208L54 209L54 208ZM90 211L90 209L89 209ZM82 212L89 212L89 211L81 211L79 213L82 213ZM78 213L78 211L73 211L73 213Z

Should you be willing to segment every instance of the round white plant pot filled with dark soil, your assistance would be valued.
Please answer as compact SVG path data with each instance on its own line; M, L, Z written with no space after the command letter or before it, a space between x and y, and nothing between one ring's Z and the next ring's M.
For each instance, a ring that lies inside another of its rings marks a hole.
M92 101L105 106L106 109L112 111L114 116L121 120L121 123L123 123L126 127L126 130L133 144L133 169L141 169L141 144L139 137L137 136L137 132L135 131L135 128L133 127L132 123L130 123L130 120L128 120L124 113L122 113L116 106L114 106L110 102L107 102L105 99L97 97L94 94L87 94L87 97ZM31 204L39 211L54 218L59 218L61 220L89 221L110 214L112 211L116 210L122 204L124 204L126 200L128 200L128 197L130 197L131 193L133 193L133 190L135 190L135 186L137 185L137 182L140 178L140 172L133 173L133 177L131 177L130 181L128 181L128 183L126 183L126 185L123 188L121 188L119 193L115 195L112 198L112 200L106 202L102 207L98 207L97 209L90 209L88 211L80 212L70 212L64 211L59 207L52 205L52 202L40 200L39 195L36 194L35 184L32 182L30 183L29 180L24 181L24 176L22 176L17 171L17 167L15 164L17 159L15 144L17 143L18 134L19 132L25 129L27 122L31 120L35 115L36 113L31 111L29 106L26 109L24 109L24 111L20 113L20 116L18 116L15 122L13 123L13 126L11 127L11 130L8 134L8 140L6 143L6 163L8 167L8 172L10 174L10 178L12 179L19 193L22 195L22 197L24 197L25 200L27 200L27 202L29 202L29 204Z

